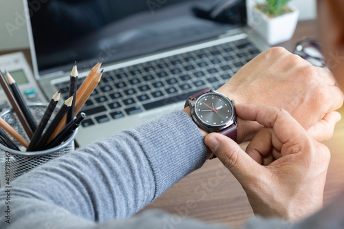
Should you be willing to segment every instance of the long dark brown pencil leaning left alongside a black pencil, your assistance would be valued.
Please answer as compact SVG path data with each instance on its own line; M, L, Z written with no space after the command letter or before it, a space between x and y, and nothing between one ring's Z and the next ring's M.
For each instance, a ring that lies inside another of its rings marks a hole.
M26 120L23 111L19 107L17 100L14 98L14 95L12 94L12 90L10 89L10 86L8 86L8 84L6 83L5 77L3 76L1 71L0 71L0 84L1 84L1 87L3 88L3 91L5 91L5 94L8 100L11 103L14 112L17 113L19 121L23 125L25 132L28 134L28 137L31 139L34 133L32 132L32 129L28 123L28 120Z

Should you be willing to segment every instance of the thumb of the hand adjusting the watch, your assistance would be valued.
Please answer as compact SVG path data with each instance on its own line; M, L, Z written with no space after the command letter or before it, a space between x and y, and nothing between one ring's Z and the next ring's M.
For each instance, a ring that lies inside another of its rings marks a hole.
M255 175L261 174L261 165L255 162L237 142L220 133L210 133L204 138L204 143L208 146L219 160L233 173L238 181L248 182ZM244 186L244 185L243 185Z

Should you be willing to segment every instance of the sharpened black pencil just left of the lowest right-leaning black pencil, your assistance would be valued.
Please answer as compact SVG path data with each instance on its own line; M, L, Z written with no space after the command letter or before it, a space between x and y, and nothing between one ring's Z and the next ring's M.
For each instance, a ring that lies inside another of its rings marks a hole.
M56 116L50 123L50 125L47 127L47 129L44 131L41 140L37 143L37 145L34 147L35 151L41 151L45 148L45 144L47 144L47 140L49 140L50 136L56 129L58 123L61 122L63 119L63 116L67 113L68 109L72 106L72 101L73 101L74 96L70 96L65 100L65 103L62 105L62 107L58 110L56 113Z

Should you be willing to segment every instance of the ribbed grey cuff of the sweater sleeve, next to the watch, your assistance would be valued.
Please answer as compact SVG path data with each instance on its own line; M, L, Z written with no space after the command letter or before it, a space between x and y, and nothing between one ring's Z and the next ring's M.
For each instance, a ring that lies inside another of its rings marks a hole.
M154 199L206 161L203 135L184 111L174 111L129 132L151 164Z

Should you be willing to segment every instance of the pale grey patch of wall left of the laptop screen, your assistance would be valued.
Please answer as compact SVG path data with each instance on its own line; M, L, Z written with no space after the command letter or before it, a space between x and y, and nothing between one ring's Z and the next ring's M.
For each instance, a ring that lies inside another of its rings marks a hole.
M29 47L23 0L0 1L0 50Z

